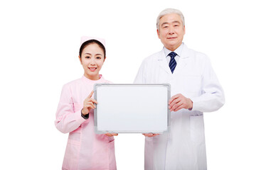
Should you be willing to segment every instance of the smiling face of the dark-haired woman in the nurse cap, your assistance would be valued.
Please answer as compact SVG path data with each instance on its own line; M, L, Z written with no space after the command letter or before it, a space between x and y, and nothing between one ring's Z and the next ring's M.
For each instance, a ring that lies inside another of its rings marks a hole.
M104 52L100 46L95 43L87 45L79 58L85 70L85 77L91 80L100 79L99 72L105 61Z

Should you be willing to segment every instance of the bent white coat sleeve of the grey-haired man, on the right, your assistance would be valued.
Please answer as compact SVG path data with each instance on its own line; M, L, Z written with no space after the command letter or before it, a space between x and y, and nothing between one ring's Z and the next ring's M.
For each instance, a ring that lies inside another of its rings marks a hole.
M191 98L193 101L192 111L217 111L225 103L223 88L220 86L208 57L204 60L203 65L201 96Z

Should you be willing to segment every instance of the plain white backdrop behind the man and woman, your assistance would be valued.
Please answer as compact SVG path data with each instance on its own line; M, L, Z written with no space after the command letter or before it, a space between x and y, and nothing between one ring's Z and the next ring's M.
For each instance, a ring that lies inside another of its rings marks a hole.
M61 169L68 134L54 126L63 84L82 77L80 36L105 38L101 74L132 83L161 50L156 16L180 9L184 42L206 53L226 103L205 113L208 169L256 169L253 1L1 1L0 169ZM144 136L115 137L117 168L144 169Z

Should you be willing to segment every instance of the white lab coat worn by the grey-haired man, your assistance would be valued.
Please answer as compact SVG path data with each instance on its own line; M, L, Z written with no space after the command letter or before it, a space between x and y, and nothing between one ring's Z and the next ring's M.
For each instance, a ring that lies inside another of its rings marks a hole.
M191 98L193 109L171 112L169 132L145 138L145 169L207 169L203 112L217 111L225 102L210 60L183 45L172 74L163 49L142 62L134 80L134 84L156 83L171 84L171 96Z

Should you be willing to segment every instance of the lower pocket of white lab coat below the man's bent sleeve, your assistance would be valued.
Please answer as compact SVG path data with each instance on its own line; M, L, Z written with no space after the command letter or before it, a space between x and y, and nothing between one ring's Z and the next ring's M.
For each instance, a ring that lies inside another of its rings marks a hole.
M190 116L191 141L196 145L204 143L203 115Z

